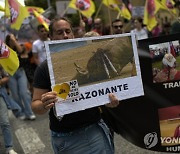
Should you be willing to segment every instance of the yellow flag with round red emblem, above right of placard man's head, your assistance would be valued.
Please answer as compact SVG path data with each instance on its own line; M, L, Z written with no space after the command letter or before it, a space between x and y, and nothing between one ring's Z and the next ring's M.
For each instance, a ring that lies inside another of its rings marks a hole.
M87 18L90 18L95 12L95 5L92 0L71 0L68 7L79 10Z

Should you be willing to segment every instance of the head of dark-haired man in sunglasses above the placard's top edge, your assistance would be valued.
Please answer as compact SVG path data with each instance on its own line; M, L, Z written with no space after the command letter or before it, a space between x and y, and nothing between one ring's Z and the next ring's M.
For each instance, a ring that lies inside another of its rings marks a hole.
M113 30L113 34L124 33L123 22L120 19L115 19L114 21L112 21L112 30Z

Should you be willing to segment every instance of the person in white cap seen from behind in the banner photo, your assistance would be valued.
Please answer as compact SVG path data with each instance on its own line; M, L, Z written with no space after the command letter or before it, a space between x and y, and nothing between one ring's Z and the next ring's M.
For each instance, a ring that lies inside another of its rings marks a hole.
M163 69L154 77L154 82L180 80L180 71L176 69L176 59L171 53L164 55L162 66Z

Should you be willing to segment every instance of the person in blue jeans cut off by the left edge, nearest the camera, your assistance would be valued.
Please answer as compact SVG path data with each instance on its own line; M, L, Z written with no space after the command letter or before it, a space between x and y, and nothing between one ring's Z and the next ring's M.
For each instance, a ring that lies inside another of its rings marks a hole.
M8 96L4 93L4 91L6 91L5 84L8 82L8 79L8 74L0 67L0 127L4 137L6 154L17 154L13 149L13 136L8 117L7 105L9 104L7 103L10 102L6 102Z

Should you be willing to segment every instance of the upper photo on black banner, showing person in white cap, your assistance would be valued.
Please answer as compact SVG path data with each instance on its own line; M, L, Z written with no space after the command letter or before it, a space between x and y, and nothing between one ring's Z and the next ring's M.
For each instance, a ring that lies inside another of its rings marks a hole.
M170 41L149 46L152 58L153 82L180 80L180 44Z

